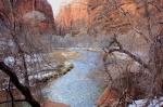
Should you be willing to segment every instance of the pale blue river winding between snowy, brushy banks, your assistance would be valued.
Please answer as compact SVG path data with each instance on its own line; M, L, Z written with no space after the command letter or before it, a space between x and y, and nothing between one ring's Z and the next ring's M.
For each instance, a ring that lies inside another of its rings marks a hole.
M52 102L60 102L71 107L95 107L95 103L101 94L98 80L90 79L92 68L100 68L100 52L76 51L80 57L68 59L65 63L73 63L74 68L66 75L53 80L43 93Z

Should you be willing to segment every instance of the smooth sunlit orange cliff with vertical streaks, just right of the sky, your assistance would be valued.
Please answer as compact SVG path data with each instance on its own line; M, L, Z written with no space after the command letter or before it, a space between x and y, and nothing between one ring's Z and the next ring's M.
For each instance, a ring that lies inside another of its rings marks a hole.
M55 17L58 35L65 36L72 32L77 36L80 30L87 30L88 5L87 0L73 0L71 4L63 6Z

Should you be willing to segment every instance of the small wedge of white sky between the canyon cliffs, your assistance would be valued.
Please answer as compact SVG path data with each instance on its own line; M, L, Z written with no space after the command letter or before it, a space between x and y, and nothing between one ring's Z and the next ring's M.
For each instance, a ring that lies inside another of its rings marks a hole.
M51 4L54 15L60 11L61 5L70 3L72 0L48 0Z

